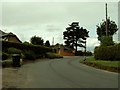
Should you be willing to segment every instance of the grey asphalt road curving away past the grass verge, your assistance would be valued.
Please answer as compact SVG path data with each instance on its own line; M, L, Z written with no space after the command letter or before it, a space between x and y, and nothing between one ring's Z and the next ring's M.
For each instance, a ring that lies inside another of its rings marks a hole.
M20 88L118 88L118 74L79 63L82 57L64 57L23 65Z

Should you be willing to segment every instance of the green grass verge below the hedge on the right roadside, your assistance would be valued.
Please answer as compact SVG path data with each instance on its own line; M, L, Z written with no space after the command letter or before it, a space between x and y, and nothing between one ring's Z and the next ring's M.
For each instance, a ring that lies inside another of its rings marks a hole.
M93 56L87 57L86 61L82 60L80 63L103 69L111 72L120 73L120 61L106 61L106 60L95 60Z

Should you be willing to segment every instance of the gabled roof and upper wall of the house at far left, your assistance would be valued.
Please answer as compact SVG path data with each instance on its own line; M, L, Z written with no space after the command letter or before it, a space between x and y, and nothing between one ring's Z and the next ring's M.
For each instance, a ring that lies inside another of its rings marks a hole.
M0 30L0 41L8 41L8 42L15 42L15 43L22 43L20 39L13 33L5 33Z

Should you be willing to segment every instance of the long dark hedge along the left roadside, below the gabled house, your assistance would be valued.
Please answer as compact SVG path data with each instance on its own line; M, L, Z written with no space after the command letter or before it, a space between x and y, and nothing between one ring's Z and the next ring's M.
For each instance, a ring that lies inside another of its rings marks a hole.
M3 52L8 53L9 48L16 48L18 50L21 50L22 52L32 51L36 55L45 55L47 52L52 52L51 48L45 47L45 46L2 41L2 50L3 50Z

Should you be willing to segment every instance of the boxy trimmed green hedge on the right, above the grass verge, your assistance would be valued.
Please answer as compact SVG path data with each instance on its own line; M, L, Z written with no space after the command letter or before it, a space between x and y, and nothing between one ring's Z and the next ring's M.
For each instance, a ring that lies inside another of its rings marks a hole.
M120 60L120 44L96 47L94 57L96 60Z

